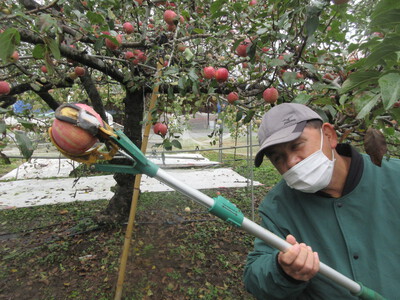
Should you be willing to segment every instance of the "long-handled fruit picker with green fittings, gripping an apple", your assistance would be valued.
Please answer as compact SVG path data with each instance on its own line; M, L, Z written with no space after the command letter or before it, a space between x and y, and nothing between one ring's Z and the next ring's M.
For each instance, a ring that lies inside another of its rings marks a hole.
M49 129L50 138L58 150L66 157L88 165L93 165L94 168L99 171L133 175L146 174L190 197L197 203L206 206L211 214L236 227L242 228L246 232L263 240L271 247L280 251L287 251L287 249L292 246L281 237L244 217L243 213L233 203L229 202L229 200L221 195L211 198L199 190L173 178L156 164L148 160L143 152L140 151L122 131L114 131L102 121L97 113L90 107L65 104L56 110L55 116L56 119L53 126ZM80 130L82 133L79 134L79 137L74 137L71 133L72 129ZM63 132L63 130L65 131ZM75 151L76 149L72 145L74 142L75 145L83 144L82 140L79 138L84 134L87 134L91 138L92 145L90 146L93 146L97 139L99 139L107 146L107 152L101 152L99 147L89 150L86 149L90 143L87 143L84 148L81 148L84 150ZM79 140L78 142L76 142L77 139ZM99 159L110 160L117 152L121 152L129 157L132 160L132 165L96 163ZM385 299L377 292L365 287L362 283L353 281L322 262L320 262L319 273L346 288L360 299Z

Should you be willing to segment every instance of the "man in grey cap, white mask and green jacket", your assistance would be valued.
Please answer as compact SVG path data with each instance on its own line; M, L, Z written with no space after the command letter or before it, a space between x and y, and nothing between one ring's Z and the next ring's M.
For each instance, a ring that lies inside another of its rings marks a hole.
M387 299L400 299L400 160L378 167L338 144L334 127L305 105L263 117L256 167L282 175L260 205L262 226L292 246L256 239L244 274L257 299L356 299L318 273L320 260Z

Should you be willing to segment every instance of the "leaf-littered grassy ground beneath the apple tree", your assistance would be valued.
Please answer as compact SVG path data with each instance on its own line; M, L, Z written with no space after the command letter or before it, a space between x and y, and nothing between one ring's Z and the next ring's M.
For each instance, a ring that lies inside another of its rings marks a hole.
M218 151L204 155L220 157ZM224 152L222 158L221 167L248 177L245 156ZM265 165L254 177L264 184L254 187L257 207L279 176ZM251 218L250 188L202 191L211 197L220 192ZM0 211L0 299L113 299L126 224L95 222L107 203ZM242 284L252 242L177 192L143 192L123 299L253 299Z

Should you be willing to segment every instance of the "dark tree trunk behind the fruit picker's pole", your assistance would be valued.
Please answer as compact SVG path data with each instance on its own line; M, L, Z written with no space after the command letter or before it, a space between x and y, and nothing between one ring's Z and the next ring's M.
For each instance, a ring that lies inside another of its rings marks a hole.
M127 92L125 102L124 133L137 146L142 144L142 121L144 112L144 101L142 91ZM131 165L129 159L113 159L111 163L119 165ZM114 179L117 181L115 194L111 198L105 214L114 222L126 221L132 202L134 175L116 173Z

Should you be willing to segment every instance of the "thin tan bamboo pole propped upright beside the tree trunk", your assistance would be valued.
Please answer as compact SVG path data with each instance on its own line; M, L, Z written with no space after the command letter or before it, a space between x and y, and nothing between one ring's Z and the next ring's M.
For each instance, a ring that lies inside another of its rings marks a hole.
M160 60L157 64L157 73L156 77L161 76L161 68L163 67L163 63ZM158 80L157 80L158 81ZM144 134L143 134L143 139L142 139L142 146L140 150L143 153L146 153L147 149L147 144L149 141L149 133L150 133L150 128L151 128L151 120L152 120L152 114L151 112L155 108L156 105L156 100L158 98L158 90L159 90L159 85L156 84L156 86L153 88L153 93L151 95L150 99L150 106L149 106L149 112L147 114L147 124L144 129ZM135 176L135 182L133 186L133 195L132 195L132 203L131 203L131 209L129 212L129 219L128 219L128 225L126 228L125 232L125 240L124 240L124 246L122 250L122 255L121 255L121 262L120 262L120 268L119 268L119 273L118 273L118 281L117 281L117 288L115 291L115 300L120 300L122 296L122 288L124 285L124 279L125 279L125 271L126 271L126 264L128 261L128 256L129 256L129 248L130 248L130 243L132 239L132 232L133 232L133 227L135 224L135 217L136 217L136 208L137 208L137 203L139 199L139 193L140 193L140 181L142 179L142 174L137 174Z

